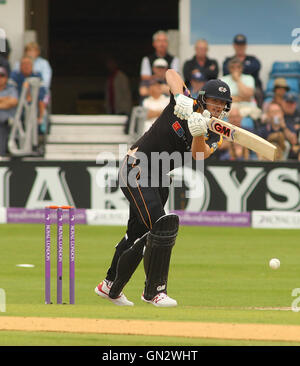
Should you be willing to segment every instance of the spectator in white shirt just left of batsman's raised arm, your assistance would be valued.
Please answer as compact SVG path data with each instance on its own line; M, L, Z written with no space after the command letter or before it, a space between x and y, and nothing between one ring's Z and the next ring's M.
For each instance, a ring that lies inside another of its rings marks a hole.
M162 93L161 84L158 80L151 80L149 96L143 101L143 107L147 109L147 120L144 132L148 131L153 122L161 115L161 112L169 104L170 98Z

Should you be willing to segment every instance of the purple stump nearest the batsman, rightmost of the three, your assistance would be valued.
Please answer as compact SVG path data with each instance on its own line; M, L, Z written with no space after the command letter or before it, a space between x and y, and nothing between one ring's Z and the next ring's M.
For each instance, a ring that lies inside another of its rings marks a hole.
M75 304L75 209L69 209L69 278L70 304Z

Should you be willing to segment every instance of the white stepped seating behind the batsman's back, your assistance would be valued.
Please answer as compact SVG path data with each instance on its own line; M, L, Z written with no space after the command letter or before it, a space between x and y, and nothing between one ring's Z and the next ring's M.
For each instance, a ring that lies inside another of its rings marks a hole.
M134 107L128 117L123 115L51 115L50 133L45 144L46 160L93 160L100 153L119 157L138 137L139 125L145 120L142 107ZM127 147L125 146L127 145Z

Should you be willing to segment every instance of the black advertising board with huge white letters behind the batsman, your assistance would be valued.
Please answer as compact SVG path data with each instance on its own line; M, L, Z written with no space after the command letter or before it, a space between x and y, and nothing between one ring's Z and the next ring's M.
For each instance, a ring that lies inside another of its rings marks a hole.
M204 171L204 174L203 174ZM300 211L300 164L210 162L171 172L169 210ZM118 164L11 161L0 163L0 207L127 209Z

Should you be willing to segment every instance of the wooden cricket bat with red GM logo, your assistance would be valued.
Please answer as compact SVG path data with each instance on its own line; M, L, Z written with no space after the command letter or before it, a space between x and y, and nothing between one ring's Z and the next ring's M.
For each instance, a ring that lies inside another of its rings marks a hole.
M227 141L233 141L247 147L268 160L275 160L277 147L252 132L214 117L209 120L208 128L225 137Z

